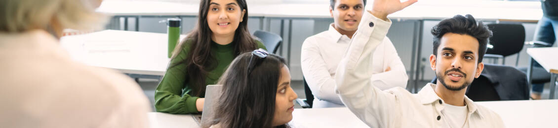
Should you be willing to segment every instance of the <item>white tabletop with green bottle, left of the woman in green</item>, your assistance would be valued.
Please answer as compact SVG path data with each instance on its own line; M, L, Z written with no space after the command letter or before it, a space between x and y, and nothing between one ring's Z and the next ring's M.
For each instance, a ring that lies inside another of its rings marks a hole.
M72 58L86 65L113 68L123 73L163 76L170 60L167 58L167 38L162 33L105 30L64 36L60 44Z

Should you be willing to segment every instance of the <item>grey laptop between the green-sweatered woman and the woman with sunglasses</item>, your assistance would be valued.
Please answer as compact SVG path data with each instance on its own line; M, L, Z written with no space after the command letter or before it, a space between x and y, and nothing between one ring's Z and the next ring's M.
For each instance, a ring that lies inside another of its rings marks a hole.
M194 119L199 125L206 121L210 121L215 113L214 106L219 101L219 97L223 92L221 92L223 85L208 85L205 87L205 101L204 109L201 112L201 117L199 115L194 115Z

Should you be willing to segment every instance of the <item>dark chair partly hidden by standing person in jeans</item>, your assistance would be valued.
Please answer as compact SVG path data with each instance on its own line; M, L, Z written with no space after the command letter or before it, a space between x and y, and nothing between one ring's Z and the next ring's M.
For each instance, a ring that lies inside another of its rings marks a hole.
M552 47L551 43L546 43L542 41L530 41L529 45L532 47ZM550 73L542 68L538 63L536 63L533 58L531 58L531 71L529 71L529 67L519 67L518 69L522 72L527 74L527 79L530 81L530 84L542 84L550 82ZM538 65L538 66L537 66Z

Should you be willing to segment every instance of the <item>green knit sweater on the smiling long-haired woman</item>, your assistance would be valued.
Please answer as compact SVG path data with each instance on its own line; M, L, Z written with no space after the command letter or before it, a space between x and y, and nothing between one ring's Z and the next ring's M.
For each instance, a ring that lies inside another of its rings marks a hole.
M262 42L256 41L258 48L265 49ZM184 61L190 50L190 42L186 42L185 47L176 57L172 58L171 63ZM215 85L227 66L234 60L234 47L232 43L219 45L211 41L211 52L217 60L217 67L208 72L205 77L206 85ZM155 90L155 109L157 112L167 112L170 114L191 114L198 113L196 100L200 97L190 96L193 93L193 81L187 81L189 77L186 65L180 64L167 69L165 76ZM205 89L205 88L204 88Z

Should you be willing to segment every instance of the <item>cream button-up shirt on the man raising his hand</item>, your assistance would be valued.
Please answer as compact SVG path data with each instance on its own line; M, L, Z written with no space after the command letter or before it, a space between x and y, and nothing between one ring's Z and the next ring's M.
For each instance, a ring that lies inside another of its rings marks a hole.
M365 17L371 14L365 15ZM372 22L372 23L371 23ZM374 24L370 27L368 23ZM360 120L370 127L450 127L442 112L443 100L428 83L419 93L401 87L382 91L370 80L375 61L373 53L391 26L391 21L376 17L363 19L349 49L337 68L336 93ZM362 37L362 38L360 38ZM373 86L370 86L373 85ZM465 96L468 127L504 127L501 117Z

